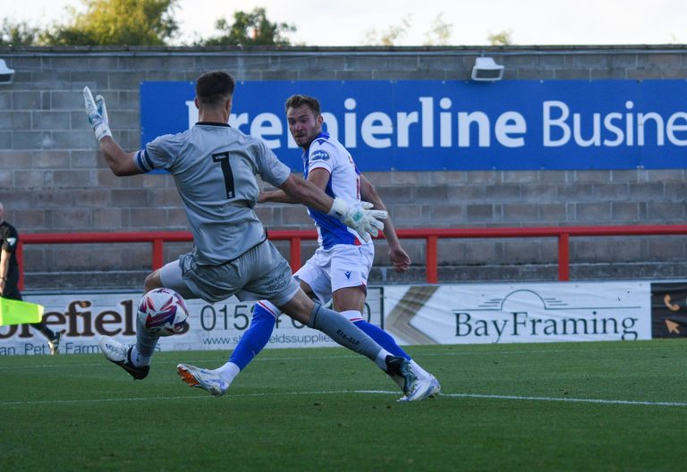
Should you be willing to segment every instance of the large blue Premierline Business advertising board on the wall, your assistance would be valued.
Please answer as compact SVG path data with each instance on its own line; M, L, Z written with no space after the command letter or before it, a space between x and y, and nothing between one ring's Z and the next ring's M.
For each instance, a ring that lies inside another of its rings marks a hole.
M369 171L687 167L685 80L246 81L229 123L293 170L284 100L318 97L327 131ZM198 119L192 82L142 82L141 142Z

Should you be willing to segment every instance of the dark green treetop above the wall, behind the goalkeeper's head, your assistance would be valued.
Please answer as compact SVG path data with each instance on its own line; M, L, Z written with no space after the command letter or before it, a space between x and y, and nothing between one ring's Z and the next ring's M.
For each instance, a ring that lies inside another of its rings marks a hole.
M273 23L267 20L265 8L255 8L252 12L237 11L233 13L233 24L224 18L215 23L220 34L200 40L201 46L287 46L290 41L284 33L293 32L296 27L289 23Z

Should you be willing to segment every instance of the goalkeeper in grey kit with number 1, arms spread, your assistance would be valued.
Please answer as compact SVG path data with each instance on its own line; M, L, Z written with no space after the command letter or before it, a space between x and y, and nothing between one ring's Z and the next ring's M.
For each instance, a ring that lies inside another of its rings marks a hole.
M335 215L369 240L383 228L386 212L349 206L331 198L289 168L259 139L230 127L235 82L226 72L208 72L196 82L199 122L191 130L165 135L136 152L125 152L112 138L105 99L83 90L86 113L106 164L117 176L164 169L172 174L193 233L193 250L146 278L146 292L165 287L185 299L210 303L235 295L240 300L267 299L293 319L326 333L332 340L370 360L388 375L402 376L407 400L423 400L431 392L427 380L410 363L395 357L334 310L312 299L293 279L291 267L272 243L255 214L259 174L293 200ZM106 358L134 379L148 375L158 334L137 323L136 343L126 345L109 336L99 340ZM207 369L179 364L182 380L215 396L229 383L222 367Z

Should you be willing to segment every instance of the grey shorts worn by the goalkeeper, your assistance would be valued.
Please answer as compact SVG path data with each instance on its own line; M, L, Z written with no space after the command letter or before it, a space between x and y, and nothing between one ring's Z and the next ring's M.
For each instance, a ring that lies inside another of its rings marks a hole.
M283 307L300 289L286 259L269 240L221 265L199 265L192 252L183 254L162 267L160 279L184 299L208 303L235 295L242 301L267 299Z

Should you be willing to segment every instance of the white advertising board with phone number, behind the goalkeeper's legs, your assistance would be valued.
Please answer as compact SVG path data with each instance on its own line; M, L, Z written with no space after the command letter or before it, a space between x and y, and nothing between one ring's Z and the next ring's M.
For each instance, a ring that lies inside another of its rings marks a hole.
M365 306L367 319L382 325L381 287L370 287ZM26 301L43 305L43 320L52 330L64 330L60 354L99 352L98 338L106 334L134 342L139 292L81 294L26 293ZM191 329L181 335L160 338L158 350L233 350L250 325L254 302L227 299L210 305L187 300ZM337 346L324 333L279 316L267 348L315 348ZM0 356L47 354L47 340L28 325L0 326Z

